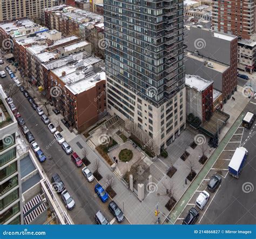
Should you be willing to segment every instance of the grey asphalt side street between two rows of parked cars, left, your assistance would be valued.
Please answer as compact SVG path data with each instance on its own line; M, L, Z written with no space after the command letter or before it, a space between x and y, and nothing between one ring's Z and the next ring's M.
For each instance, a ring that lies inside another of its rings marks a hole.
M4 70L5 65L0 65L0 71ZM22 82L22 81L21 81ZM0 83L5 86L14 85L14 81L6 73L6 78L1 79ZM25 120L38 145L43 150L47 159L42 163L46 175L51 178L52 174L58 173L62 178L66 189L76 202L76 207L69 211L69 216L75 224L95 224L94 216L98 210L101 210L109 221L113 216L107 209L108 203L102 203L98 197L95 197L95 182L89 183L82 174L82 169L77 168L66 155L58 142L53 141L54 136L50 133L48 127L30 106L23 93L18 91L12 99L18 108L19 113ZM49 149L46 149L49 148Z

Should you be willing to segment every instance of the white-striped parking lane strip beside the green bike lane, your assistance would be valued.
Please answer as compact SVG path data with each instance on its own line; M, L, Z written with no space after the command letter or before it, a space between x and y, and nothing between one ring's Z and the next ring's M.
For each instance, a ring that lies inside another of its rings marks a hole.
M200 210L199 208L196 207L199 210L199 218L198 218L196 224L200 224L201 220L203 220L204 215L205 215L208 207L210 207L211 203L214 200L215 195L217 195L219 189L221 188L221 185L220 185L219 188L214 193L210 192L207 189L208 181L210 180L211 176L216 174L216 173L221 175L221 177L223 177L223 180L225 180L225 178L228 174L228 164L230 163L230 160L232 159L232 156L235 152L235 149L237 147L240 147L240 145L241 145L242 134L243 133L244 133L244 127L241 127L241 125L240 125L237 128L237 130L235 131L235 133L233 134L230 141L228 141L228 143L226 144L225 148L223 149L223 151L219 155L218 159L215 161L215 163L213 164L211 169L208 171L208 173L204 177L203 181L201 181L197 190L191 195L190 200L186 204L184 210L181 211L181 213L178 216L175 224L182 224L183 219L186 217L186 215L188 213L188 210L190 210L190 208L192 208L192 207L196 207L195 203L196 203L196 199L197 199L198 195L203 190L206 190L206 192L208 192L210 194L210 199L207 202L205 208L203 210Z

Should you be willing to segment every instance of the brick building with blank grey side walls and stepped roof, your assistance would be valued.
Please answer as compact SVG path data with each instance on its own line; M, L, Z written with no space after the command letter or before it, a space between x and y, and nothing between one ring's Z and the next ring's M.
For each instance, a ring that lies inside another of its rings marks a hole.
M186 74L213 80L226 103L237 89L237 37L197 26L188 29Z

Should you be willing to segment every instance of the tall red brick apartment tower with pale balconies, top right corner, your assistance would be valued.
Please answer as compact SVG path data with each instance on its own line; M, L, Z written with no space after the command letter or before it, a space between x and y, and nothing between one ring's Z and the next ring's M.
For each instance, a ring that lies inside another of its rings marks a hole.
M213 0L213 30L250 39L256 29L256 0Z

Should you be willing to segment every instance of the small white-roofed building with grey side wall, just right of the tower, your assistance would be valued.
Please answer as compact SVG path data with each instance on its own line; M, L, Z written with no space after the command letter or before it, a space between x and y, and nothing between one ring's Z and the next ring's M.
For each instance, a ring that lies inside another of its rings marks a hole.
M186 114L192 113L202 122L213 112L213 81L186 75Z

